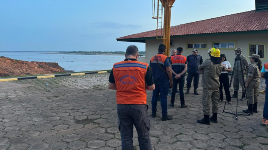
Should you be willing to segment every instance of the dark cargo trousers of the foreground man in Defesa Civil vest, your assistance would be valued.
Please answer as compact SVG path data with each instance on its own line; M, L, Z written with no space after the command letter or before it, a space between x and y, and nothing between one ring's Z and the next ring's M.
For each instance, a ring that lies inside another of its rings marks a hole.
M118 129L121 135L122 150L134 150L133 125L138 133L140 150L151 150L149 135L150 120L148 105L117 104Z

